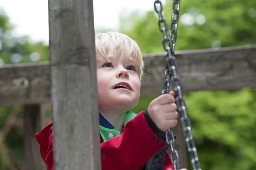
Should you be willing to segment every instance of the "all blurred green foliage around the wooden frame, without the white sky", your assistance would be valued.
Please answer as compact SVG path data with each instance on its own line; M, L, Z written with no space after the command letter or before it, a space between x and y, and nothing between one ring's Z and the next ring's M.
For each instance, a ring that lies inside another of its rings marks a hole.
M152 3L152 2L149 2ZM254 0L182 0L177 31L177 50L218 48L256 44L256 1ZM163 15L170 25L172 0L164 5ZM185 14L185 15L184 15ZM184 16L194 21L183 25ZM199 16L199 17L198 17ZM198 24L203 16L206 21ZM157 14L135 11L121 16L119 28L136 40L143 54L162 53L162 33L157 25ZM19 62L31 62L37 52L39 61L49 60L48 46L42 42L31 43L29 37L12 37L12 25L8 17L0 14L0 64L12 63L13 54L20 54ZM96 32L102 32L99 30ZM141 97L132 111L145 110L156 96ZM207 170L253 170L256 167L256 89L238 91L194 92L185 95L192 132L198 147L199 159ZM12 108L0 108L0 128L6 122ZM50 116L47 109L47 116ZM22 112L19 117L22 117ZM5 141L23 160L23 139L17 129L12 129ZM190 164L190 163L189 163ZM8 170L0 154L0 169ZM191 168L190 168L191 169Z

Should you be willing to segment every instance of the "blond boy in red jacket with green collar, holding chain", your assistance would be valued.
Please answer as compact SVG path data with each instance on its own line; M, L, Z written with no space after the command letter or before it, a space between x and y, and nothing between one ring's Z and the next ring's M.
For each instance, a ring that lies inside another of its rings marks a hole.
M165 132L177 125L174 92L154 99L145 111L130 112L140 97L143 57L125 34L97 34L96 61L102 170L172 170ZM53 170L53 124L36 139L47 170Z

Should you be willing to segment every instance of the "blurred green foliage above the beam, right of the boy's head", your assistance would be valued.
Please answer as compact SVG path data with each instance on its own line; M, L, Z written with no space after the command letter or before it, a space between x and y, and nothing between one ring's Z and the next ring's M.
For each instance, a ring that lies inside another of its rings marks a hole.
M163 17L170 27L173 1L167 2ZM255 44L256 17L250 16L255 15L255 10L256 1L252 0L181 1L176 50L218 47L219 42L221 47ZM183 25L186 16L190 16L194 24ZM206 21L199 25L203 16ZM157 21L158 15L153 8L145 14L135 11L130 16L120 17L119 31L136 40L144 54L163 52L163 35Z

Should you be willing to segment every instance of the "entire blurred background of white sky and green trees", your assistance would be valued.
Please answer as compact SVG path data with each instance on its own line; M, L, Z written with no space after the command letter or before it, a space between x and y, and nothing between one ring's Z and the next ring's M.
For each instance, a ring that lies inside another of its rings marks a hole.
M162 2L170 25L172 0ZM164 52L154 0L93 3L96 32L125 33L143 54ZM0 1L0 67L48 61L48 41L47 0ZM255 0L181 0L176 51L255 44ZM141 97L132 111L144 110L155 97ZM256 89L193 92L185 99L203 169L256 170ZM24 164L23 109L0 108L1 133L10 115L17 120L0 145L0 170L9 170L6 152L20 167ZM50 103L46 116L51 122Z

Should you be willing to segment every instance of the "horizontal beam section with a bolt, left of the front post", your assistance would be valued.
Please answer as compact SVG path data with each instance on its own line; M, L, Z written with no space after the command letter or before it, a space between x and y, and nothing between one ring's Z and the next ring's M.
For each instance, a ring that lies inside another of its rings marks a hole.
M49 62L0 68L0 106L50 102Z

